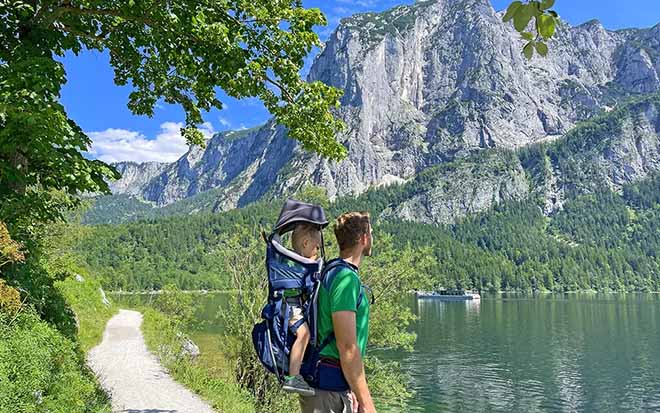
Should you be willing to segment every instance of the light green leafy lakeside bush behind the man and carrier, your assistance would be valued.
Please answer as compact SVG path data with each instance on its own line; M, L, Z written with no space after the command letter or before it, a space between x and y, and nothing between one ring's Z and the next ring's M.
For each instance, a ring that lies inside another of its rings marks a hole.
M237 382L253 395L258 411L296 411L297 397L284 393L275 376L266 371L256 357L249 334L252 326L261 320L267 296L268 279L261 244L248 230L236 229L233 234L218 250L223 271L230 274L235 289L229 308L220 314L225 329L225 351L235 362ZM415 317L402 297L407 291L429 287L433 255L429 249L397 250L392 237L384 234L375 238L374 252L362 267L362 281L372 287L376 296L370 316L369 348L412 350L416 336L407 328ZM336 256L332 249L327 253L328 258ZM384 363L368 353L365 367L378 407L405 411L412 394L407 391L409 377L401 373L398 364Z

